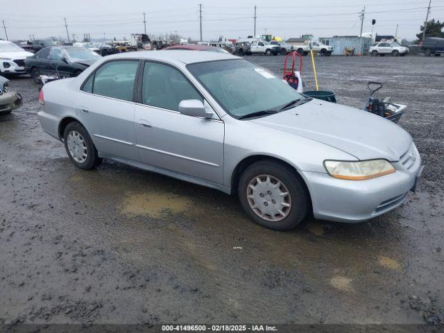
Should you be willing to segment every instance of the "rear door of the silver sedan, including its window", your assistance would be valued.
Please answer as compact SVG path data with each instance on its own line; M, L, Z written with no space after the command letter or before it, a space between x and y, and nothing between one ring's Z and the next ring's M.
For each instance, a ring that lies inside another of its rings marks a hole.
M78 119L87 128L98 151L138 160L135 148L135 78L139 60L111 60L85 80L76 105Z

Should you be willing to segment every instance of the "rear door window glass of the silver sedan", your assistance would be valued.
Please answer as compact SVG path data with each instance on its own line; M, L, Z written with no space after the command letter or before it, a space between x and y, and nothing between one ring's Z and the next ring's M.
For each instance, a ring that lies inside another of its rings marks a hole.
M139 60L116 60L99 67L94 74L92 93L133 101L134 82ZM83 86L87 92L89 80Z

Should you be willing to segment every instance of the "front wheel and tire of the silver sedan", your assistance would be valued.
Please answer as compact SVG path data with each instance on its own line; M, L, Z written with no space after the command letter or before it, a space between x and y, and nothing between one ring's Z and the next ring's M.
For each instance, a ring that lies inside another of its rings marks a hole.
M278 182L281 185L276 188ZM258 185L262 189L255 190ZM284 193L287 195L282 196ZM238 194L246 214L265 228L293 229L309 212L309 196L302 178L291 167L279 162L263 160L250 165L241 175Z

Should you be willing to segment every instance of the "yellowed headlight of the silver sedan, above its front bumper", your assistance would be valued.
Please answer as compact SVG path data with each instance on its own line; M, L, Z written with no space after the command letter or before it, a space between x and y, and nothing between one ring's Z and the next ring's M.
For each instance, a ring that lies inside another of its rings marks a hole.
M327 173L334 178L366 180L388 175L395 168L387 160L368 160L359 162L324 161Z

